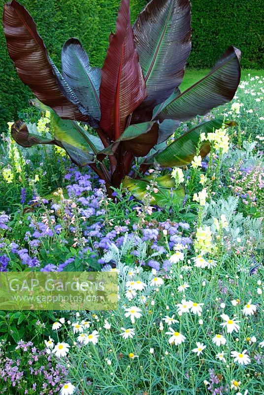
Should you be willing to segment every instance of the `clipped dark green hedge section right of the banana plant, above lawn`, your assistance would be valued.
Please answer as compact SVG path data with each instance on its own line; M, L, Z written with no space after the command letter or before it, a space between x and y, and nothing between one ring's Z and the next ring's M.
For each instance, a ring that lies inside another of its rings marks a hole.
M212 67L229 45L244 69L264 69L263 0L191 0L193 49L188 66Z

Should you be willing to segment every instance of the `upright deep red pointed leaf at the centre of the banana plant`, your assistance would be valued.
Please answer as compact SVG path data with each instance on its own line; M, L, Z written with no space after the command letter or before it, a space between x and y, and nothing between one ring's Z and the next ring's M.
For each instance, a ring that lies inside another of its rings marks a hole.
M122 0L116 33L110 36L100 85L100 127L112 140L126 128L127 117L146 97L145 80L138 63L130 24L129 0Z

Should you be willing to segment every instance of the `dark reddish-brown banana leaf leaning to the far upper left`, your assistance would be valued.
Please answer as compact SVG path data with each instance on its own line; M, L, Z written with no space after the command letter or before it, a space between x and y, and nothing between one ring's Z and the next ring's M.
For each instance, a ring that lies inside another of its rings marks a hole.
M71 103L59 88L58 70L50 61L45 44L26 8L15 0L5 4L3 27L9 55L18 75L33 90L35 96L61 118L89 122L90 117L83 115L78 110L77 103Z

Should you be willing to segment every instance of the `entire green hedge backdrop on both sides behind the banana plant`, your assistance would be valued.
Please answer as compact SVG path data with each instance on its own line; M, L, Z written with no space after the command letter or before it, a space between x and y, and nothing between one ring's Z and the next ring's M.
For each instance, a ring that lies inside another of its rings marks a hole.
M4 0L0 0L1 8ZM115 28L120 0L20 0L32 14L55 63L63 43L81 40L93 65L102 66L108 37ZM146 0L131 0L132 21ZM263 0L192 0L193 50L189 66L211 67L233 44L242 50L242 66L264 68ZM0 133L27 107L31 91L17 77L0 29Z

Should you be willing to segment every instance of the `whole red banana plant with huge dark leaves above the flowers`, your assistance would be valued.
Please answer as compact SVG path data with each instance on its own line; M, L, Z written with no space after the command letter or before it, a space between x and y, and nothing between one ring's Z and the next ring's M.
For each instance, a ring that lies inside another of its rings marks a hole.
M166 140L181 121L230 101L240 80L240 51L230 46L206 77L180 92L191 50L189 0L151 0L133 26L130 1L122 0L101 70L91 67L82 44L72 38L63 46L60 72L33 18L16 0L5 4L3 26L18 75L37 98L31 103L50 110L53 133L44 139L19 120L12 126L13 138L23 147L64 148L74 163L89 165L105 180L109 194L111 186L122 183L142 197L151 183L150 176L143 177L149 166L190 163L200 133L221 127L223 119L203 122L168 146ZM84 124L95 134L88 133ZM209 150L204 141L200 155ZM129 177L134 158L141 158L141 178ZM169 175L158 178L157 186L156 202L169 194L182 196Z

